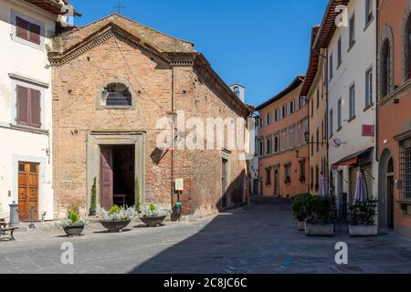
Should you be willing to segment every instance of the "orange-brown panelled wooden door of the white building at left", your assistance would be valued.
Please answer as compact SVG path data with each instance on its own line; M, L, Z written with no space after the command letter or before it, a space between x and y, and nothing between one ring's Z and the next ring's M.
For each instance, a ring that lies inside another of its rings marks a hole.
M18 218L38 220L38 168L34 162L18 162Z

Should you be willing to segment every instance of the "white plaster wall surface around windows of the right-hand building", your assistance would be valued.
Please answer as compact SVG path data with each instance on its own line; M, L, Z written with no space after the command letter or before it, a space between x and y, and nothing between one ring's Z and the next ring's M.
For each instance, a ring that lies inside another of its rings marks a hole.
M348 5L349 19L355 14L355 45L349 49L349 27L340 27L332 37L328 56L333 56L333 78L329 80L329 117L333 111L333 137L346 144L340 148L332 147L330 140L330 165L339 162L344 157L358 151L375 146L375 138L362 137L363 125L376 125L376 1L374 0L374 20L365 28L365 1L353 0ZM342 65L337 68L338 39L342 37ZM374 107L365 110L365 73L368 68L373 68L373 99ZM330 68L329 68L330 72ZM349 90L355 84L355 115L356 119L349 122ZM342 130L337 131L338 100L342 99ZM374 155L373 155L374 156ZM342 168L344 178L348 181L347 168ZM374 194L377 195L377 170L374 161ZM334 172L335 186L337 185L337 173ZM348 193L347 183L344 183L344 192ZM338 191L338 190L337 190Z

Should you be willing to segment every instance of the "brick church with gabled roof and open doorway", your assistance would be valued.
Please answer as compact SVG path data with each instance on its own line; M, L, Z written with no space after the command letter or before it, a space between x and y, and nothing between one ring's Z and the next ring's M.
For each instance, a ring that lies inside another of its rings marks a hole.
M54 45L55 217L72 204L87 212L94 185L98 206L180 201L193 218L247 202L239 151L164 150L156 142L157 121L182 111L185 120L251 114L193 44L115 14Z

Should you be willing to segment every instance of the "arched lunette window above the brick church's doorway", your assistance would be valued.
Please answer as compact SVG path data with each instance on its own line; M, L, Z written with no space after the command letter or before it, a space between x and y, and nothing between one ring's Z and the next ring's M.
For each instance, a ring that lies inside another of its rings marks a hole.
M103 90L101 101L106 107L131 107L132 93L126 85L113 82Z

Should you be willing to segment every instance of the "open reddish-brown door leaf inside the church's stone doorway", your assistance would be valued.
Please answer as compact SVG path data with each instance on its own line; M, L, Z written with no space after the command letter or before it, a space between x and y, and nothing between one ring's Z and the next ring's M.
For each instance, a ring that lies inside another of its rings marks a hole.
M112 148L101 146L100 206L109 210L113 204Z

